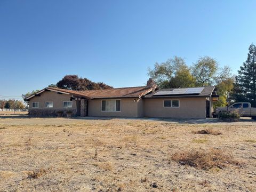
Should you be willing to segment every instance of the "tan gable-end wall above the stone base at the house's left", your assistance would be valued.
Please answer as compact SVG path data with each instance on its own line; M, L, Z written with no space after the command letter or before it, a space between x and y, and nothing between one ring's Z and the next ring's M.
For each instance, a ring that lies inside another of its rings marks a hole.
M63 107L63 101L69 101L71 95L68 94L58 94L54 91L45 91L41 93L40 97L34 97L29 100L29 109L57 109L65 110L67 108ZM53 102L53 108L45 107L45 102ZM33 108L32 102L39 102L39 108ZM72 108L76 109L76 102L73 100Z

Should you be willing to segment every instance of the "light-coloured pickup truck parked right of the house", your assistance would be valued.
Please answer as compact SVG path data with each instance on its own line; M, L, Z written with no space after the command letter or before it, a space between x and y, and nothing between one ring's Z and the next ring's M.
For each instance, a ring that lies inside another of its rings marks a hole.
M239 102L234 103L229 107L218 107L214 110L213 116L217 116L220 111L233 111L238 110L243 114L244 117L252 117L252 119L256 119L256 108L251 107L251 103L249 102Z

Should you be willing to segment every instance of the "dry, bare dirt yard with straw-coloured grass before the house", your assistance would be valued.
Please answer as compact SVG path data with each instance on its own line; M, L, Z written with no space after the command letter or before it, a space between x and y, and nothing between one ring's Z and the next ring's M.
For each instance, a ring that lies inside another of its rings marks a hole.
M256 191L255 122L4 116L0 155L0 191Z

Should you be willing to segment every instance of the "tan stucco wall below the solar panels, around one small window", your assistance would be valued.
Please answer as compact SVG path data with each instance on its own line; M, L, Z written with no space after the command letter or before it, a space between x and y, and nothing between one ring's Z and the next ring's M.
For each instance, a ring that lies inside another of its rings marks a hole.
M180 107L164 107L164 100L180 100ZM205 100L206 98L144 99L144 116L170 118L205 118Z

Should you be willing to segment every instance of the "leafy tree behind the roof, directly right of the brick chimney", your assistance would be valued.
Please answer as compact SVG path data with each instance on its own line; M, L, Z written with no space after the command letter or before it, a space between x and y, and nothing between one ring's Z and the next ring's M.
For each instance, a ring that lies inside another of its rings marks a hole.
M195 79L185 60L177 56L163 63L156 62L153 69L148 68L148 75L162 89L195 86Z

